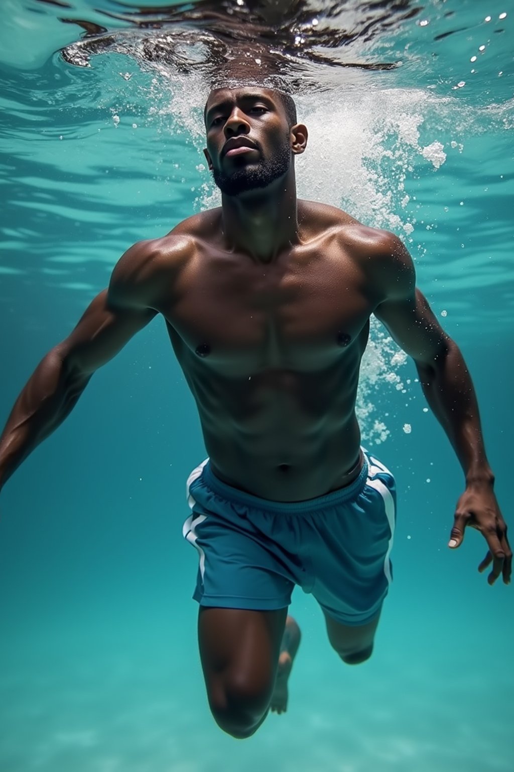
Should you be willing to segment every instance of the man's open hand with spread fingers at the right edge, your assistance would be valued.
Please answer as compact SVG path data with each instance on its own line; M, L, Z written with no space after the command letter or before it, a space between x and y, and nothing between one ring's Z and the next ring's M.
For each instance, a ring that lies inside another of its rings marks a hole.
M482 573L492 563L492 571L487 577L488 583L494 584L502 574L504 584L510 584L512 550L507 539L505 520L489 483L470 484L462 493L457 502L448 547L454 550L460 547L466 526L479 530L489 545L489 550L479 565L479 571Z

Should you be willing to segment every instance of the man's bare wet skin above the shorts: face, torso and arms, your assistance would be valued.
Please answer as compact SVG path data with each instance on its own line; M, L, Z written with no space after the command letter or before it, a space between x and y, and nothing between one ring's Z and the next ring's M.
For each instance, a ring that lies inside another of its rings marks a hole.
M415 361L465 472L449 546L476 527L489 546L481 570L492 563L489 582L501 574L508 582L512 551L472 381L415 289L405 246L338 208L297 201L293 161L307 129L291 125L276 92L218 89L206 107L205 154L215 178L243 173L254 182L238 195L223 192L221 208L139 242L119 260L109 289L22 390L0 438L0 488L66 418L92 374L157 313L220 479L276 501L344 486L359 471L355 398L375 313Z

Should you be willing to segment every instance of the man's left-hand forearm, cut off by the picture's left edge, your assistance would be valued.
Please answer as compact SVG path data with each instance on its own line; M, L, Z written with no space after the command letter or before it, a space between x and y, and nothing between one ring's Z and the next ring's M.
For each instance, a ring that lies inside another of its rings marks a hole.
M29 453L62 423L89 378L72 371L58 348L45 356L16 400L0 437L0 489Z

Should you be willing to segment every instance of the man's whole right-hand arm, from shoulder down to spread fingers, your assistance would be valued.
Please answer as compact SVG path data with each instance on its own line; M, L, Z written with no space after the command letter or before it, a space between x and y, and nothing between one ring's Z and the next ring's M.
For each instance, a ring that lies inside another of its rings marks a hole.
M468 368L459 347L442 330L428 301L415 288L415 270L405 247L390 234L385 234L381 247L378 272L383 294L375 316L414 359L428 405L448 435L465 474L465 491L457 503L448 547L460 546L465 527L476 528L489 546L479 571L492 563L489 584L500 574L509 584L512 550L493 490L494 475L485 455L479 405Z

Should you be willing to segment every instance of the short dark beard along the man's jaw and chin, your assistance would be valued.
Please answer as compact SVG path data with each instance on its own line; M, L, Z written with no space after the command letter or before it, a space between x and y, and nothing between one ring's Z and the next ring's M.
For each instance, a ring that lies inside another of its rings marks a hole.
M262 148L259 143L255 143L257 150L262 157ZM229 174L220 169L213 169L213 178L217 187L224 195L238 195L256 188L267 188L279 177L287 174L291 166L291 147L289 144L289 134L284 137L284 142L277 147L272 158L264 161L257 161L255 164L242 164Z

